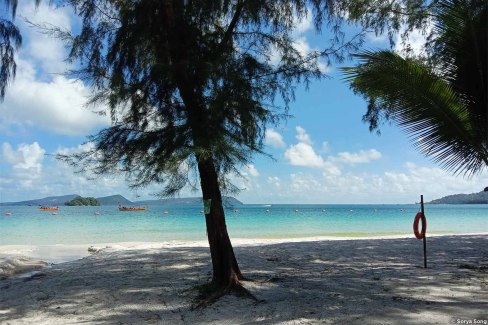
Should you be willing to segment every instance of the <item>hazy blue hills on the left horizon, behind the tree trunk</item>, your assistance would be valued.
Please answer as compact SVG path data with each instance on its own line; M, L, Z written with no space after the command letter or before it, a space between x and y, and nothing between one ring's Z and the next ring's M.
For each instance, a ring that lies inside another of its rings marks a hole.
M0 206L22 206L22 205L43 205L43 206L53 206L53 205L64 205L68 202L81 202L79 198L83 198L78 194L62 195L62 196L48 196L42 199L19 201L19 202L2 202ZM77 200L78 199L78 200ZM202 198L189 197L189 198L171 198L171 199L159 199L159 200L141 200L141 201L130 201L120 194L103 196L98 198L90 198L96 200L98 205L164 205L168 207L172 206L189 206L189 205L202 205ZM244 205L241 201L237 200L231 196L224 196L224 207L234 207L239 205ZM70 204L71 205L71 204ZM90 204L73 204L73 205L90 205Z

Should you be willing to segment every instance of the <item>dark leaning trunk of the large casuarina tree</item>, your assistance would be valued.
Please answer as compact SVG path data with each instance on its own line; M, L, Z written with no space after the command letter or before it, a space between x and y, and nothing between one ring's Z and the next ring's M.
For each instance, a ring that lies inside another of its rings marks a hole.
M252 294L242 287L239 280L243 280L241 271L234 255L234 250L227 233L225 214L220 192L219 178L211 153L212 144L209 128L211 123L203 100L202 85L197 81L202 71L195 72L195 68L189 68L195 63L192 55L191 29L186 28L183 19L183 6L181 2L166 0L162 6L161 24L169 31L168 43L160 46L161 61L166 58L165 51L169 50L174 66L175 82L185 104L188 123L193 133L193 142L199 150L206 148L206 154L196 154L200 185L203 199L211 200L210 212L205 214L208 243L212 258L213 275L211 282L211 294L206 301L212 301L231 290L244 293L252 298ZM240 9L239 9L240 10ZM235 25L235 23L234 23ZM197 69L198 70L198 69ZM255 299L255 298L254 298Z

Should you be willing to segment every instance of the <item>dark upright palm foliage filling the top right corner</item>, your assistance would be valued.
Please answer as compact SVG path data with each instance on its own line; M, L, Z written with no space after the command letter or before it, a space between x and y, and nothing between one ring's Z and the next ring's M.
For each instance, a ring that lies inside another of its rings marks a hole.
M469 105L471 120L488 142L488 1L441 1L431 61Z

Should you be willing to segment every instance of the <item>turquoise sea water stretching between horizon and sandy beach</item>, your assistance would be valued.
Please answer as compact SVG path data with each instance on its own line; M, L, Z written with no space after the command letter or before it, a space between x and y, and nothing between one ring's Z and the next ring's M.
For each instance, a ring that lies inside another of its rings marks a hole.
M245 205L238 209L226 210L231 238L261 239L408 235L419 206ZM52 215L35 206L3 206L0 245L205 240L200 210L200 206L150 206L147 211L120 212L116 206L61 206ZM426 216L428 234L488 232L488 205L426 205Z

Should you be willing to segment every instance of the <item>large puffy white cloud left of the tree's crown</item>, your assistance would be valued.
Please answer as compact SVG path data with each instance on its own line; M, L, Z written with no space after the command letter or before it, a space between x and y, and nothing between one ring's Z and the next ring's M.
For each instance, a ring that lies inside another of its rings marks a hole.
M86 135L95 127L109 125L107 116L84 106L90 90L80 80L55 76L51 81L39 81L31 63L18 60L18 67L15 82L0 106L2 128L16 125L57 134Z

